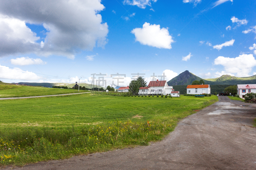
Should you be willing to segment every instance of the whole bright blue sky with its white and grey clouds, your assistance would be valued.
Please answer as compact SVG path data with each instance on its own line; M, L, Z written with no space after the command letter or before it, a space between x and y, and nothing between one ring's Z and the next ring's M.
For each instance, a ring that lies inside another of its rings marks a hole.
M109 85L119 73L125 86L132 73L148 82L153 73L170 80L185 70L201 78L256 74L255 1L2 3L4 82L91 83L102 73Z

